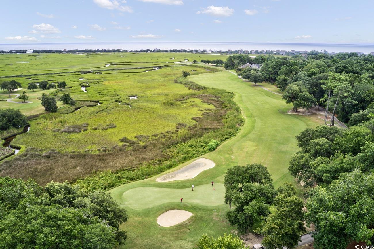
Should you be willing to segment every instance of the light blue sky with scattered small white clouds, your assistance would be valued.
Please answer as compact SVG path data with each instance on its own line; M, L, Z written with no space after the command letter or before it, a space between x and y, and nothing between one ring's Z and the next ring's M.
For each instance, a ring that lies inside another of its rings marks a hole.
M0 43L373 44L373 0L1 0Z

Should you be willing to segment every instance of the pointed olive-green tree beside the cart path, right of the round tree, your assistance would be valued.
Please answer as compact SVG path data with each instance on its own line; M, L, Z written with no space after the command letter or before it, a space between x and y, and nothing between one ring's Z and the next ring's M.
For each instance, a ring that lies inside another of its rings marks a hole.
M274 200L275 212L269 215L266 223L257 232L264 235L261 245L268 249L295 248L304 233L304 202L297 197L291 183L284 183Z

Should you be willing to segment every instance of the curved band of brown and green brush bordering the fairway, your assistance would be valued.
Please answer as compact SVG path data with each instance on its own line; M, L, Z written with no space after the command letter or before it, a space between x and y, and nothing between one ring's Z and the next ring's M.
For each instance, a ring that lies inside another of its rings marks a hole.
M210 103L195 125L177 123L175 130L152 136L139 135L135 140L123 137L124 146L63 153L28 148L19 157L0 165L1 175L38 183L69 180L87 189L110 189L123 183L145 179L210 151L209 143L218 144L234 136L243 120L233 94L207 88L194 98ZM222 108L225 106L226 108ZM101 153L107 151L106 153ZM48 174L46 174L48 172Z

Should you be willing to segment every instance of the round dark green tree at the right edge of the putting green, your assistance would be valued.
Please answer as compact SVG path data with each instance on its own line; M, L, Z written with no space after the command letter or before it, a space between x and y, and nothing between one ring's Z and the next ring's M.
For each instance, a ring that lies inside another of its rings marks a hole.
M275 190L269 171L261 164L235 166L227 170L224 185L225 203L236 207L227 211L227 218L246 232L270 214Z

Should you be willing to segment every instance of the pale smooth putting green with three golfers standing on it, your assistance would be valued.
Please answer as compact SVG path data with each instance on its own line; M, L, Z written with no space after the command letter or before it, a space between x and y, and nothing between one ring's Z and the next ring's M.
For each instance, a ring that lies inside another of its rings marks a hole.
M222 183L199 185L194 188L132 188L123 193L122 201L126 207L132 209L147 209L169 202L200 204L203 206L217 206L224 204L225 188ZM144 196L146 195L146 198Z

